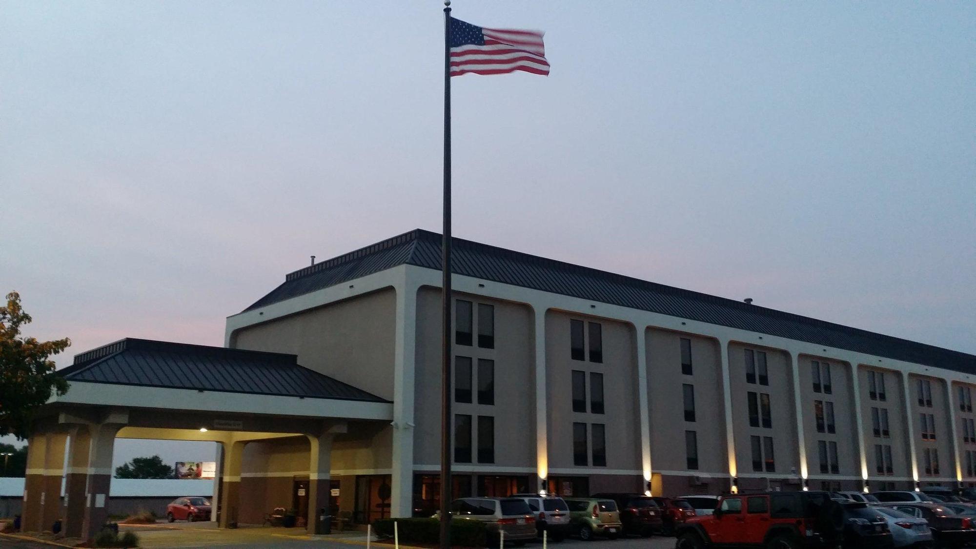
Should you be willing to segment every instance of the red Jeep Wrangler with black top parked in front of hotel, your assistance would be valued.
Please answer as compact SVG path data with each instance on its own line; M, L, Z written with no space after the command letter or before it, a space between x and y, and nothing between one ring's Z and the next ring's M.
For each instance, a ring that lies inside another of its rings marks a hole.
M689 517L677 528L675 549L836 547L842 513L825 491L729 494L718 500L714 514Z

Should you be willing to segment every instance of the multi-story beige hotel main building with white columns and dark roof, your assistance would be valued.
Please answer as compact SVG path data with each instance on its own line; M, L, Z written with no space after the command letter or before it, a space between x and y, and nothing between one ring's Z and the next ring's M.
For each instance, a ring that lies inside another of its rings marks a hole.
M972 355L455 242L457 495L976 483ZM391 421L348 414L324 469L304 437L224 443L242 522L300 478L358 522L436 507L439 262L440 235L407 232L227 318L226 347L391 402Z

